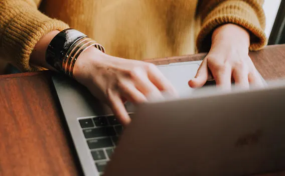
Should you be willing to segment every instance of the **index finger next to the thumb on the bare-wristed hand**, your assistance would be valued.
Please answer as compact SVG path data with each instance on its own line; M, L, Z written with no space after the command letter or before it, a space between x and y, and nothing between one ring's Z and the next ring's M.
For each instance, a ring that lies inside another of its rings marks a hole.
M231 67L227 65L210 67L216 85L222 89L231 89Z

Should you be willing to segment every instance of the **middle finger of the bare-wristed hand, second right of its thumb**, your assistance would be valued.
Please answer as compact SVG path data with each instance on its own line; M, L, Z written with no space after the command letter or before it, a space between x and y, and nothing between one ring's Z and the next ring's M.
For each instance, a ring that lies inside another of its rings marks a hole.
M243 88L249 88L247 70L245 70L245 69L234 69L232 71L232 77L234 79L235 84L237 84Z

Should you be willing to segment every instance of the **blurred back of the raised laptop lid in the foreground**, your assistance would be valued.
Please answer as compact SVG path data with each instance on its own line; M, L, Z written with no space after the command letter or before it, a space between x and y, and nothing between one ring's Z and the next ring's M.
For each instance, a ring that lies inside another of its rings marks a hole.
M245 175L285 168L285 82L140 105L106 175Z

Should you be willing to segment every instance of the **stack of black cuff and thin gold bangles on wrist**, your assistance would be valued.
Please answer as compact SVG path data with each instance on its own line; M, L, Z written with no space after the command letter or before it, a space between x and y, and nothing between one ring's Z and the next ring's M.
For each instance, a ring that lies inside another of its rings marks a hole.
M75 29L65 29L50 42L46 51L46 61L58 71L73 77L73 68L78 56L91 46L105 52L102 45L85 34Z

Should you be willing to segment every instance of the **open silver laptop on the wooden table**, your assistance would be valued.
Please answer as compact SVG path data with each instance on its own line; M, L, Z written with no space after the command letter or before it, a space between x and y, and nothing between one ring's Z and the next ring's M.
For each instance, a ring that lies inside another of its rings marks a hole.
M188 98L127 104L126 129L84 86L53 76L84 174L240 175L285 166L285 86L190 96L199 94L187 82L200 63L159 66Z

